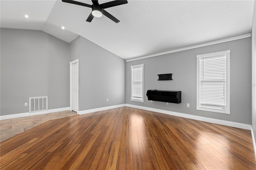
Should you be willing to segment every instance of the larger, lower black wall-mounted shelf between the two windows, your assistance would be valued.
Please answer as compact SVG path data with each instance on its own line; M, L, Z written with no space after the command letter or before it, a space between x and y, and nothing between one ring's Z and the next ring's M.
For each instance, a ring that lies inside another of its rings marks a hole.
M181 91L148 90L148 100L181 103Z

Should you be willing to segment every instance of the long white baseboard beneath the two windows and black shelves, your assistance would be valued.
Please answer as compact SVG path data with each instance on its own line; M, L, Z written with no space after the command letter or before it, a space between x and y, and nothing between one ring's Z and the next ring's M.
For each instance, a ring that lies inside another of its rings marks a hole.
M167 115L173 115L173 116L184 117L184 118L188 118L188 119L194 119L194 120L198 120L198 121L215 123L215 124L218 124L218 125L225 125L225 126L229 126L229 127L236 127L236 128L251 130L251 125L247 125L247 124L243 124L243 123L223 121L223 120L220 120L220 119L212 119L212 118L208 118L208 117L201 117L201 116L189 115L189 114L185 114L185 113L165 111L165 110L161 110L161 109L154 109L154 108L150 108L150 107L143 107L143 106L137 106L137 105L126 104L126 106L137 108L137 109L143 109L143 110L147 110L147 111L164 113L164 114L167 114Z

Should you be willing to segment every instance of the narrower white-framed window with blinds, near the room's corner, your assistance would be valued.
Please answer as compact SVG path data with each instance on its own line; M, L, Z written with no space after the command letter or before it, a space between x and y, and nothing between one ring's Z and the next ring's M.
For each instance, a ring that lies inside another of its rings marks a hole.
M143 67L141 65L131 66L131 100L143 102Z

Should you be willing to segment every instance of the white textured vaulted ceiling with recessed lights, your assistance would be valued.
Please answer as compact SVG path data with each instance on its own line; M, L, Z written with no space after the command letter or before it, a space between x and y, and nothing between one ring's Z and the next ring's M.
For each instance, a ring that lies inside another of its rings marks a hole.
M105 2L109 0L99 0ZM0 0L0 26L42 30L66 42L81 35L132 59L248 34L253 6L253 0L128 0L106 9L120 20L116 24L106 16L86 22L91 8L61 0Z

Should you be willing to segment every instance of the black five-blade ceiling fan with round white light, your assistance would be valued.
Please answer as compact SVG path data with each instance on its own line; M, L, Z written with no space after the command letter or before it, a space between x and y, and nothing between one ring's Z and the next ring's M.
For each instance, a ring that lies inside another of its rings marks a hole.
M111 2L106 2L104 4L99 4L98 0L92 0L92 5L90 4L85 4L82 2L77 2L74 0L62 0L62 2L67 2L70 4L76 4L76 5L80 5L80 6L86 6L89 8L92 8L92 12L90 13L90 15L88 16L87 20L88 22L91 22L92 19L95 17L101 17L102 14L105 15L106 17L108 17L110 20L118 23L120 22L117 18L115 18L114 16L112 16L110 13L106 12L106 8L110 8L113 6L118 6L118 5L122 5L122 4L127 4L127 0L114 0Z

